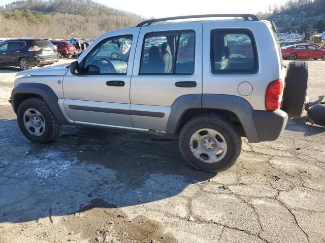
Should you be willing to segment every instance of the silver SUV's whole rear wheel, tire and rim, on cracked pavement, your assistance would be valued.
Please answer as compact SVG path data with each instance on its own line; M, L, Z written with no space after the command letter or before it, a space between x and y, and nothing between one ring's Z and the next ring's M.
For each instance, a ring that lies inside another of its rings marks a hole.
M192 167L218 172L230 168L237 160L241 137L231 121L217 114L203 114L184 125L179 148Z

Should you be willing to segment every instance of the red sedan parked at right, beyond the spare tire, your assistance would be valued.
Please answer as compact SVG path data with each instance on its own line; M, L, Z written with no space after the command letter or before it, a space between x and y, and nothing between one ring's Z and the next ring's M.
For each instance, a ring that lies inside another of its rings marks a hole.
M311 44L297 44L281 48L283 59L321 59L325 61L325 49Z

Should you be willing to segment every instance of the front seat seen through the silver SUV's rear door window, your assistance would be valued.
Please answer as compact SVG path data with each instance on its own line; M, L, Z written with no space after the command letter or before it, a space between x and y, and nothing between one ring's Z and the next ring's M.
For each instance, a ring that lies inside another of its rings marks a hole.
M161 61L158 47L150 47L148 62L143 66L142 73L164 73L164 63Z

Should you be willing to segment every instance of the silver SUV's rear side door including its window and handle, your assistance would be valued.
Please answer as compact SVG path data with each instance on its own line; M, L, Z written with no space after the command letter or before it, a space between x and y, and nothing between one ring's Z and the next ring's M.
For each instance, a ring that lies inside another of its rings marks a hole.
M131 81L134 127L166 131L180 96L202 94L202 23L141 28Z

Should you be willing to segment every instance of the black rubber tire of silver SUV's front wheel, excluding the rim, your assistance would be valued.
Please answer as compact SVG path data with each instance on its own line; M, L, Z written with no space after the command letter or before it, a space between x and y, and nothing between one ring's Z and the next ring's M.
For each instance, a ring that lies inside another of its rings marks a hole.
M28 109L35 109L40 112L45 120L45 130L42 135L36 136L28 132L24 126L24 113ZM47 143L52 141L60 132L61 124L48 107L46 102L39 97L29 98L20 103L17 109L18 126L23 135L35 143Z

